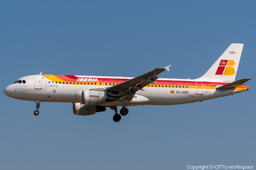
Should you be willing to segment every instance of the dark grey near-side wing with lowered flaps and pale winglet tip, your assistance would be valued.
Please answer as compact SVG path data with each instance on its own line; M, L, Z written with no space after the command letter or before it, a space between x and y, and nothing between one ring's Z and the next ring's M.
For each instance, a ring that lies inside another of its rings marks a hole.
M147 86L150 83L156 83L155 80L158 79L156 75L159 75L163 71L167 70L169 71L169 67L171 65L168 65L164 68L157 68L154 69L153 71L150 71L146 74L143 74L141 76L132 78L130 80L127 80L125 82L116 84L114 86L111 86L109 88L106 88L107 92L110 92L110 90L117 90L117 91L125 91L123 94L125 95L125 98L129 99L130 101L133 99L135 96L135 93L138 90L143 90L143 87Z

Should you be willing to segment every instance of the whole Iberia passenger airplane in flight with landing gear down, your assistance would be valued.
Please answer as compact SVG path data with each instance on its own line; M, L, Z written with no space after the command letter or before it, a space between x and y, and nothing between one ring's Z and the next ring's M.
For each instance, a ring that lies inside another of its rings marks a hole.
M113 120L119 122L127 115L128 106L179 105L249 90L243 85L251 78L235 81L243 44L231 44L210 69L197 79L158 78L170 65L157 68L138 77L30 75L16 80L4 89L8 97L34 101L39 114L41 102L73 103L75 115L92 115L115 111ZM121 106L120 114L117 106Z

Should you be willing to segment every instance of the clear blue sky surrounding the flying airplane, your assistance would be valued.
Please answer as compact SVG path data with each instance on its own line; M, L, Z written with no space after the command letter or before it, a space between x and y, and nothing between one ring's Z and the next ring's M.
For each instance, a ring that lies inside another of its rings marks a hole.
M26 75L198 78L243 43L249 91L199 103L76 116L71 103L0 94L0 169L256 167L255 1L1 1L1 89ZM118 110L121 108L118 108Z

